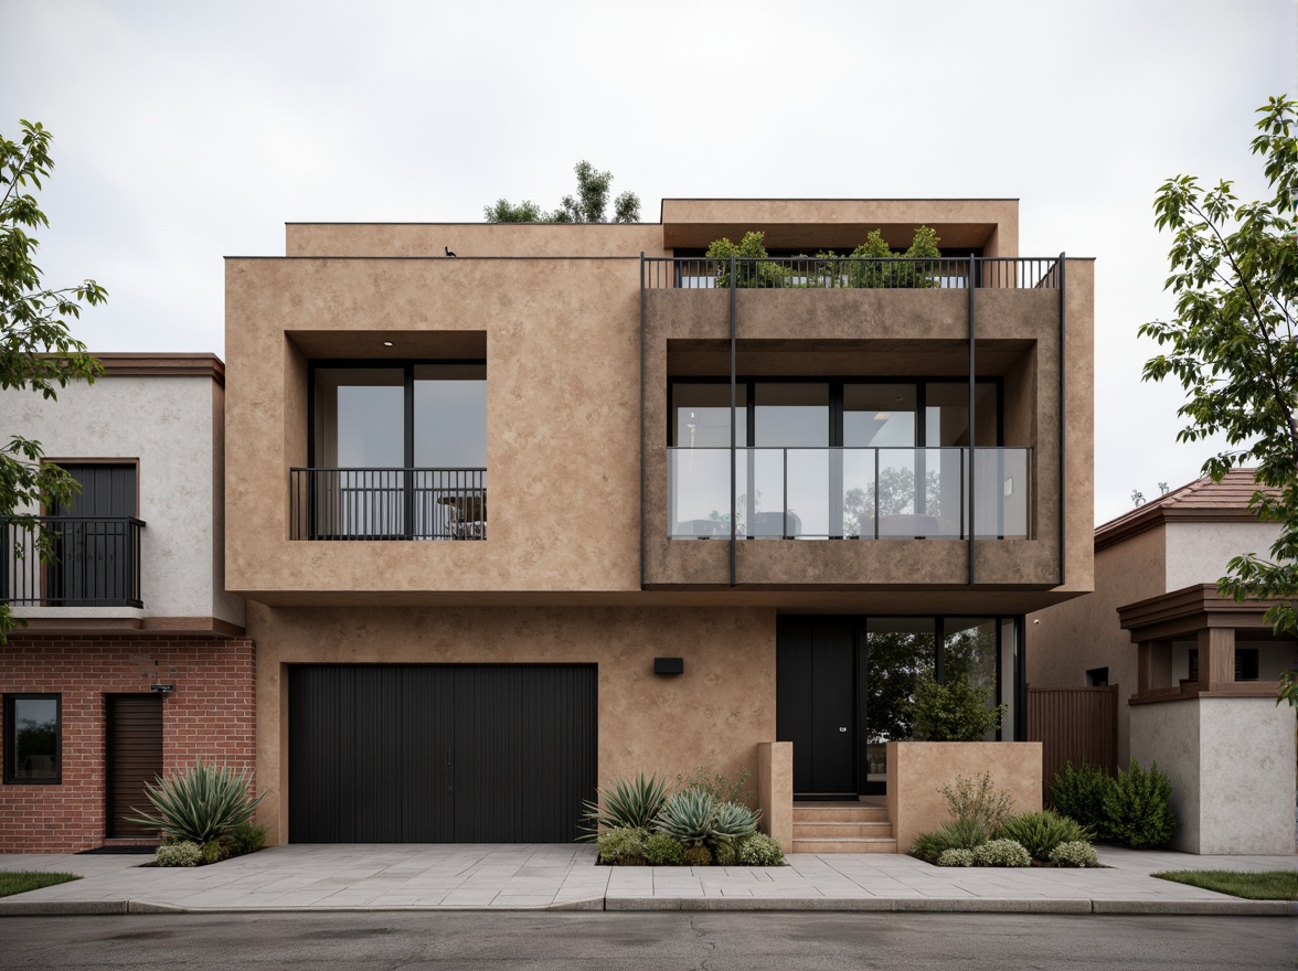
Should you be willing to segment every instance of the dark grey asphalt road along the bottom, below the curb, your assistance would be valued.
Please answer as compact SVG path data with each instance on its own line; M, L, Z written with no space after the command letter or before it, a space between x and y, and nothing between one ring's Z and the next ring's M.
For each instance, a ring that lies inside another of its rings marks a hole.
M0 918L0 968L1294 967L1285 918L1025 914L213 914Z

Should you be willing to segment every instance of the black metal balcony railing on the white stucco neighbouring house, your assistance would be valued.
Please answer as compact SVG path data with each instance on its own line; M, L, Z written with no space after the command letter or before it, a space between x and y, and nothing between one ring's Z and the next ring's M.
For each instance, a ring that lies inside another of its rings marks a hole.
M53 534L44 563L34 526L0 523L0 600L39 606L144 606L143 522L93 515L40 515L35 522Z

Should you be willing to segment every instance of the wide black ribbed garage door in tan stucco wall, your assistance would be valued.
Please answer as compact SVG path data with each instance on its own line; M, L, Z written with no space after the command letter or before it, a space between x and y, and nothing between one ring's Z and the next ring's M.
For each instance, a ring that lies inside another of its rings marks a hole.
M594 774L594 666L288 669L293 842L566 842Z

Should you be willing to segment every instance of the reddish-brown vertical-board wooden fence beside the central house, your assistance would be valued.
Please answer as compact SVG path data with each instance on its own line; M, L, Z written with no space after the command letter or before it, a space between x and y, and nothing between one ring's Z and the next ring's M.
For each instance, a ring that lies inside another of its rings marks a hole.
M1028 688L1028 741L1041 743L1042 796L1067 762L1118 767L1118 685Z

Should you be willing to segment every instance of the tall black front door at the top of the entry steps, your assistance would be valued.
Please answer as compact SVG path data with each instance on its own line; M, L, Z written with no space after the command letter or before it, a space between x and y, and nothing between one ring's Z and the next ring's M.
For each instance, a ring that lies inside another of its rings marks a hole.
M855 618L779 618L776 737L793 743L794 793L855 797L861 791L859 672Z

